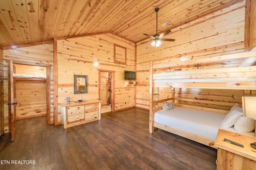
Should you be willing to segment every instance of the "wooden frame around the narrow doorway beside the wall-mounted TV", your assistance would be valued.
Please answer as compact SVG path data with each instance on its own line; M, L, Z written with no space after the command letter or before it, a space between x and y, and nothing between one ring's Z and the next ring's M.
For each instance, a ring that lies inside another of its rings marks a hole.
M111 75L111 80L110 80L110 85L111 85L111 88L110 88L110 103L111 103L111 111L114 112L115 111L115 99L114 99L114 95L115 95L115 87L114 87L114 78L115 78L115 72L116 71L113 71L113 70L104 70L104 69L97 69L98 70L98 75L99 75L99 85L98 85L98 89L99 89L99 99L100 99L100 72L103 71L103 72L108 72L110 73Z

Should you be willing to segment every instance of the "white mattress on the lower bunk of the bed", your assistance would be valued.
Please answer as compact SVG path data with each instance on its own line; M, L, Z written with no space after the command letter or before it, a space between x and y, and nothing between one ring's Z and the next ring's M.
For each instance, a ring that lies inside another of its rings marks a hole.
M220 123L225 116L226 114L175 106L168 111L156 112L154 122L216 140ZM222 129L238 132L234 127ZM254 136L253 132L242 134Z

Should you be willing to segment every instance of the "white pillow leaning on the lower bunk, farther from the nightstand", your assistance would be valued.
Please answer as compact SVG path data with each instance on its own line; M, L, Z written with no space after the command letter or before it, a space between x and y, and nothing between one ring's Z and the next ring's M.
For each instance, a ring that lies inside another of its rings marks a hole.
M243 109L237 103L230 109L228 114L222 120L220 127L221 128L230 128L236 121L243 115Z

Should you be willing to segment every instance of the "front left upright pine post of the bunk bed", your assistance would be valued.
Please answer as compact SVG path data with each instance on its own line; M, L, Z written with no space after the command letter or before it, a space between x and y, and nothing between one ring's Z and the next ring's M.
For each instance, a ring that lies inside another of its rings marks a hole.
M154 92L153 92L153 62L150 61L149 63L149 132L153 133L154 132L154 127L153 127L153 101L154 101Z

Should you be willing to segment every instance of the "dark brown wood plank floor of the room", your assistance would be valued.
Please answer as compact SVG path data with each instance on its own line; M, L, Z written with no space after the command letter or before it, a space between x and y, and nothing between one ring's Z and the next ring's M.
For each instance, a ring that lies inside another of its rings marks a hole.
M10 161L0 169L216 169L216 149L163 130L150 134L148 111L138 108L104 113L100 121L66 130L46 125L46 117L23 119L10 140L10 134L0 138L0 160Z

